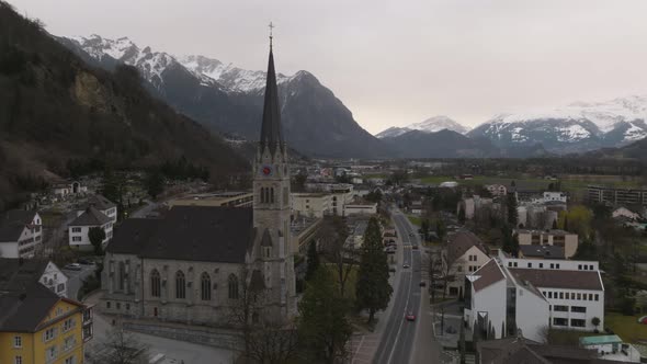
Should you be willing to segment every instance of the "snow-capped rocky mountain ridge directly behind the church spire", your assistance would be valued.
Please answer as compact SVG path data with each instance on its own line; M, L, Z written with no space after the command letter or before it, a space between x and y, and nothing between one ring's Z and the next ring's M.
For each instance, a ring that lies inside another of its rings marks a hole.
M151 93L212 132L258 139L264 71L245 70L204 56L174 57L150 47L140 48L127 37L91 35L59 42L105 69L121 62L136 67ZM319 157L390 153L314 75L280 73L277 83L284 134L294 149Z

